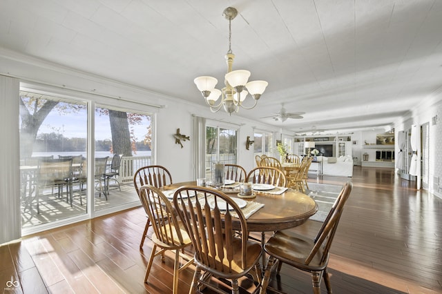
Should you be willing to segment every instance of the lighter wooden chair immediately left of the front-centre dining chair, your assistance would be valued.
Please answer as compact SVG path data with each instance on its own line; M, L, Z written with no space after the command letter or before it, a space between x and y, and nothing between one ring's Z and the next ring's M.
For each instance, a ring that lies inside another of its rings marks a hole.
M153 227L152 242L153 248L151 257L146 268L144 282L147 283L153 259L162 255L164 262L164 251L175 251L175 262L173 266L173 293L178 293L178 275L184 268L193 264L193 258L184 253L184 248L191 246L192 242L187 234L184 224L178 219L171 199L168 199L158 188L151 185L140 187L140 201ZM157 252L157 248L160 251ZM186 263L180 266L180 257Z

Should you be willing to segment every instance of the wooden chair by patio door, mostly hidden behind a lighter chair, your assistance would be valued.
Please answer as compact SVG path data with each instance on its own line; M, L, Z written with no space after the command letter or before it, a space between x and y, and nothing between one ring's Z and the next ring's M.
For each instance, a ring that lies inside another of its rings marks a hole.
M139 196L140 187L146 184L154 186L155 188L171 185L171 173L164 166L143 166L135 172L135 175L133 175L133 186L135 187L135 190ZM151 226L151 220L147 216L146 226L144 226L144 232L140 242L140 249L143 248L149 226Z

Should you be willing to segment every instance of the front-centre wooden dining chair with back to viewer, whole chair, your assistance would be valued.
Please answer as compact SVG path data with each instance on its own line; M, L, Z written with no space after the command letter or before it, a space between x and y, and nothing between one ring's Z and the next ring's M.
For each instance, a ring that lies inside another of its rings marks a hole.
M261 277L262 246L249 241L247 221L231 197L209 187L182 186L175 191L173 204L195 249L196 270L189 293L202 287L220 293L221 288L209 279L212 276L231 280L231 293L239 293L238 278L253 268Z

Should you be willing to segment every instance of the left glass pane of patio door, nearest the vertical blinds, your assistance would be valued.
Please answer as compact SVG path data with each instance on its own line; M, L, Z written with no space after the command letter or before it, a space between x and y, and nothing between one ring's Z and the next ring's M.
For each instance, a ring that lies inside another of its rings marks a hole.
M85 214L86 102L20 91L19 104L22 228Z

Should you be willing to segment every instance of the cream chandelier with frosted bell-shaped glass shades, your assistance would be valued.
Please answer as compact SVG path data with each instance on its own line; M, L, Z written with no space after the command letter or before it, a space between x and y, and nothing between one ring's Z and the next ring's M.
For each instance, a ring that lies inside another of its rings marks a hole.
M214 77L202 76L197 77L193 81L212 112L217 112L223 106L224 110L231 115L232 112L238 112L240 107L244 109L254 108L269 83L267 81L247 82L250 77L249 70L232 71L235 55L233 55L231 50L231 20L236 17L238 11L236 8L228 7L224 9L222 14L229 20L229 51L227 51L225 56L227 60L227 74L224 76L225 87L221 90L216 89L215 86L218 83L218 79ZM253 98L253 106L250 107L242 104L248 97L248 94ZM220 96L221 101L217 104Z

